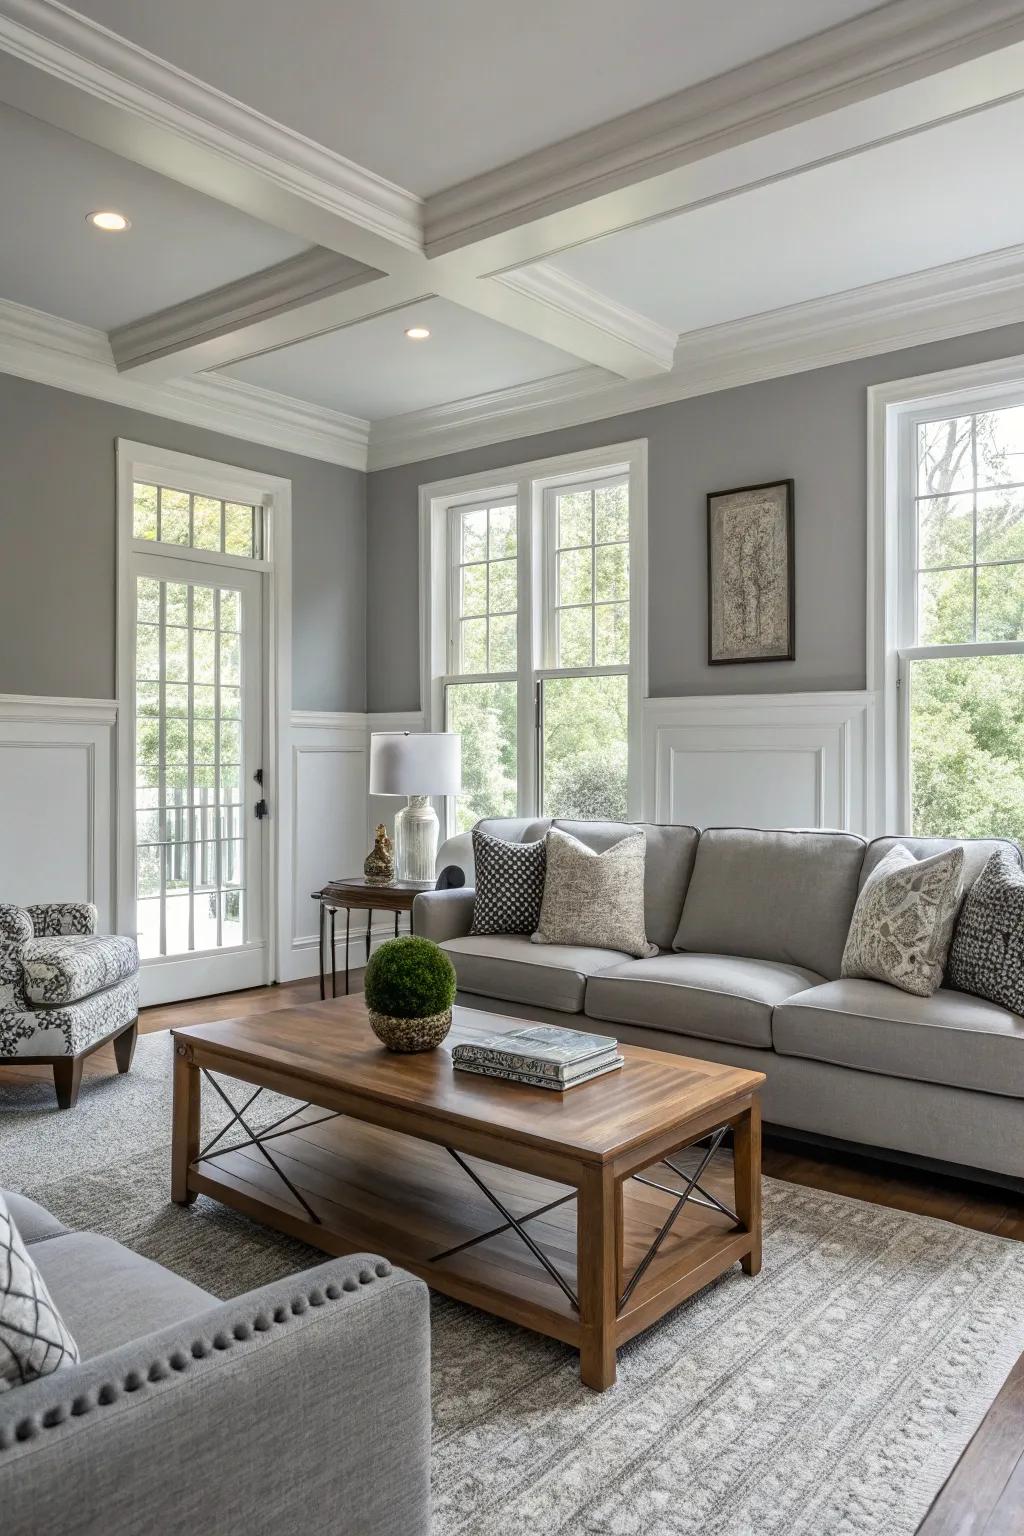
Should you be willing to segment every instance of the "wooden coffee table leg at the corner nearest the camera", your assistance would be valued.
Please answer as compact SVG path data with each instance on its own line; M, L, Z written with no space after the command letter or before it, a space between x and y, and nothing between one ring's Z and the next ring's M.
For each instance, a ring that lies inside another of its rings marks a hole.
M580 1381L594 1392L616 1382L616 1252L622 1183L608 1169L588 1167L577 1198L577 1292Z

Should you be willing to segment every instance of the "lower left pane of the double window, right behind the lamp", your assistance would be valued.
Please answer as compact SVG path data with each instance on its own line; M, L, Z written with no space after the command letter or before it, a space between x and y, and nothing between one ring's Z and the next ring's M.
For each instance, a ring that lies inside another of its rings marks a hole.
M445 730L462 736L462 794L456 823L516 814L516 684L470 682L445 688Z

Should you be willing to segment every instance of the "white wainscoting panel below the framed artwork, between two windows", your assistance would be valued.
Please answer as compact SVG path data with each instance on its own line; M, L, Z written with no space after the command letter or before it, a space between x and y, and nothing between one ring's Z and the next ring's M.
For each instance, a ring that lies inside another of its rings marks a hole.
M645 817L874 836L875 708L870 693L646 699Z

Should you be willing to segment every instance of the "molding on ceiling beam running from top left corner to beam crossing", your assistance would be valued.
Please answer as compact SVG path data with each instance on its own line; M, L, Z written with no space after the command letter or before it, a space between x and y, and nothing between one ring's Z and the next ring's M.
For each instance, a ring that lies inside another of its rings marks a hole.
M0 48L193 151L212 151L391 244L422 252L421 198L57 0L0 0Z

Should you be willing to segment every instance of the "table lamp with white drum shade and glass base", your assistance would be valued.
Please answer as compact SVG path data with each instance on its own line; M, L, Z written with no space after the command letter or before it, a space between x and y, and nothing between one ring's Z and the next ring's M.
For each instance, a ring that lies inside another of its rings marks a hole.
M462 737L454 731L373 731L370 794L404 794L395 817L395 874L434 883L438 813L431 794L462 793Z

